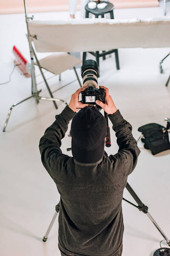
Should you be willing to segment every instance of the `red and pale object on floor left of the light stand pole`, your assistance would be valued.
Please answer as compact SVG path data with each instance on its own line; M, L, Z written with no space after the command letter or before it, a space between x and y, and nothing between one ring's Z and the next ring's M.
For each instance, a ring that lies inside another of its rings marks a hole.
M23 73L26 77L31 77L30 72L28 73L27 70L29 70L30 64L28 63L27 59L21 54L21 52L17 49L17 47L13 47L12 52L14 53L14 56L16 57L15 64L19 68L19 70Z

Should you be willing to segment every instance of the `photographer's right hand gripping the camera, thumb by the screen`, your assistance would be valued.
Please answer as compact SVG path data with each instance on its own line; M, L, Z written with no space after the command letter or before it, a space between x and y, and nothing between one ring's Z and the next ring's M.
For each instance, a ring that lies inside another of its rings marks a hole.
M116 106L114 105L112 97L109 95L109 89L105 86L99 86L100 88L106 91L105 94L105 104L100 100L96 100L96 104L99 105L106 113L113 114L117 111Z

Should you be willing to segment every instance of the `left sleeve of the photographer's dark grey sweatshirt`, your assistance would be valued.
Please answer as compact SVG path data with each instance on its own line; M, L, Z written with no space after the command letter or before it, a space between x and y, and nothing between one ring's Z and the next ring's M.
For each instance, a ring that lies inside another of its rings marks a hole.
M71 108L66 106L62 113L56 115L56 120L46 129L45 134L40 139L39 148L42 164L54 181L57 179L57 170L61 169L61 165L64 165L70 158L68 155L62 154L60 146L68 129L68 123L75 114Z

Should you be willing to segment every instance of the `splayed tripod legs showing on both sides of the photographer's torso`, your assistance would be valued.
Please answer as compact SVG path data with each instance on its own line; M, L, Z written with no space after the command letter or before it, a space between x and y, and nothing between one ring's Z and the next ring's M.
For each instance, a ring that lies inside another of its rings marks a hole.
M161 228L159 227L159 225L156 223L156 221L153 219L153 217L150 215L150 213L148 212L148 207L142 203L142 201L139 199L139 197L136 195L136 193L133 191L133 189L131 188L131 186L129 185L129 183L126 184L126 189L127 191L130 193L130 195L133 197L133 199L136 201L136 203L138 205L135 205L133 203L131 203L130 201L127 201L125 198L123 198L124 201L126 201L127 203L133 205L134 207L138 208L140 212L143 212L147 215L147 217L152 221L152 223L155 225L155 227L159 230L159 232L161 233L161 235L164 237L164 239L167 241L167 244L170 246L170 239L167 238L167 236L164 234L164 232L161 230ZM60 202L59 202L60 203ZM59 212L59 203L56 205L55 207L55 213L54 216L51 220L51 223L48 227L47 232L45 233L45 236L43 237L42 241L47 241L48 239L48 235L50 233L50 230L54 224L54 221L57 217L57 214Z

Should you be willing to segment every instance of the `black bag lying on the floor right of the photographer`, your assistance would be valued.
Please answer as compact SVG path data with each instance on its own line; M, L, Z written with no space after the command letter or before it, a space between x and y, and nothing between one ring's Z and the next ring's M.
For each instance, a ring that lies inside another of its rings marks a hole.
M144 148L150 149L153 155L170 149L168 132L165 131L163 133L162 128L165 127L156 123L150 123L138 129L144 135L144 139L142 139Z

